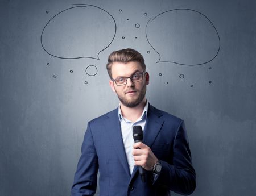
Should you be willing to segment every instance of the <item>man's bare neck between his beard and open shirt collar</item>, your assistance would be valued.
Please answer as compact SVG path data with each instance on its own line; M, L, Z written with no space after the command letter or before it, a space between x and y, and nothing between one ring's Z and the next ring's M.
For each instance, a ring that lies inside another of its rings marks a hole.
M123 117L130 120L131 122L135 122L139 117L141 117L146 102L146 98L144 98L143 101L136 107L126 107L120 103Z

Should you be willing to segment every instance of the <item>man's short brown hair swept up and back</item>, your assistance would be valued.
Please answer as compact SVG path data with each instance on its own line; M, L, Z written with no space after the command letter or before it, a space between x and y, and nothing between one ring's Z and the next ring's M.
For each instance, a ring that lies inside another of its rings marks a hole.
M139 62L141 64L143 72L146 70L143 56L138 51L135 51L135 49L127 48L112 52L108 57L108 64L106 64L106 69L108 70L109 77L112 78L111 65L113 62L127 63L131 61Z

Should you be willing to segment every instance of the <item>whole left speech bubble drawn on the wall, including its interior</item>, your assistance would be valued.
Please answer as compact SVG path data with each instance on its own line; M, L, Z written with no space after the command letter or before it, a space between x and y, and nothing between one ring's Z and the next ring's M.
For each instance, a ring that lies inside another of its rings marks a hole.
M112 44L116 30L115 20L108 11L93 5L73 4L47 22L41 44L44 51L57 58L100 60L99 54Z

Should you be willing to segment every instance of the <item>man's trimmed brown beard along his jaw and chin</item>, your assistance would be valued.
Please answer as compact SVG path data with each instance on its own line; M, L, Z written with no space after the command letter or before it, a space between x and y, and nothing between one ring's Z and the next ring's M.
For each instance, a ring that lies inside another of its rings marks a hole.
M139 103L143 101L146 95L146 88L147 88L146 85L144 85L141 92L139 92L139 95L132 100L129 100L125 96L121 96L120 94L117 94L117 97L124 106L130 107L130 108L136 107L139 105Z

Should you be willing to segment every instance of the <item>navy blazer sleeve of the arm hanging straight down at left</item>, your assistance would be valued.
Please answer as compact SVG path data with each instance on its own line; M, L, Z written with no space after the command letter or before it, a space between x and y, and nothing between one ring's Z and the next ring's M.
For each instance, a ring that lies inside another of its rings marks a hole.
M75 179L71 189L72 196L89 196L96 193L98 157L90 130L90 122L82 143L82 154L77 164Z

